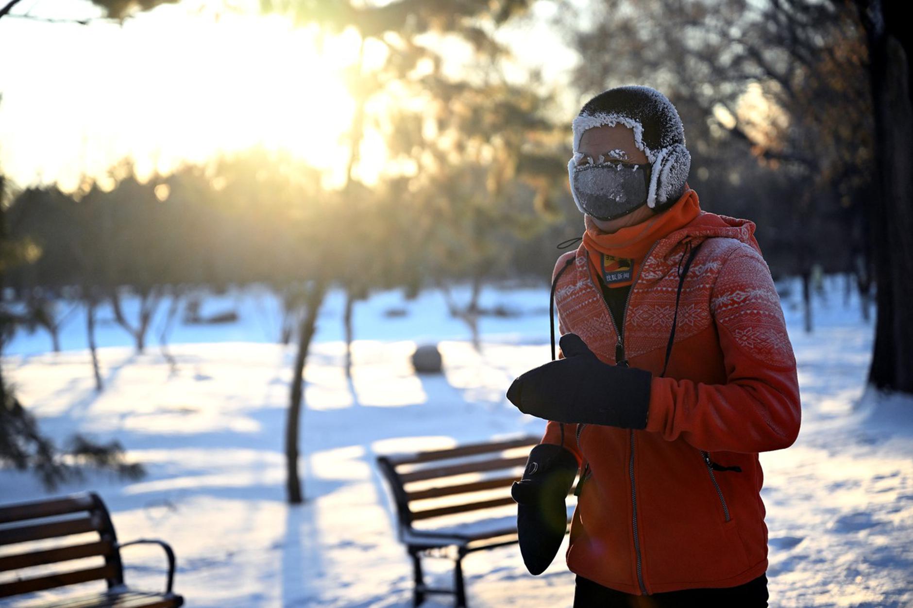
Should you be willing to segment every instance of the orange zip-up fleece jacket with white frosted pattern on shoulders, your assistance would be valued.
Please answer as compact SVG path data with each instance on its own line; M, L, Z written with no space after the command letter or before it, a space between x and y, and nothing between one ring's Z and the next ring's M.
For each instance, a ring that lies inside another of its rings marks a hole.
M564 425L563 445L591 469L572 521L571 571L651 594L732 587L767 570L758 453L792 445L801 404L780 299L754 228L701 211L657 240L638 269L620 332L585 248L559 258L552 278L573 259L555 291L561 333L576 333L609 364L622 341L629 365L654 374L644 430ZM703 243L659 377L689 239ZM548 423L542 442L561 444L558 423ZM741 470L714 470L708 460Z

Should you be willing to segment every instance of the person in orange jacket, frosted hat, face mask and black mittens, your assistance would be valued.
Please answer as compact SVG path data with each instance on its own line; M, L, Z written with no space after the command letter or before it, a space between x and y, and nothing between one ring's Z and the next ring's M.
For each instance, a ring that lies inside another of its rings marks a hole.
M553 560L580 469L575 608L767 606L758 454L792 445L802 409L755 225L700 208L659 91L603 91L572 129L585 231L552 275L561 355L508 391L549 421L512 487L523 559Z

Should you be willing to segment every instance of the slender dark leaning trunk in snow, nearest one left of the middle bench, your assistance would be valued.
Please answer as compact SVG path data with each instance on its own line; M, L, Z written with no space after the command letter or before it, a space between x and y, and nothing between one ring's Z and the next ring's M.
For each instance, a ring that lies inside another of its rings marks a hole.
M291 403L289 416L286 419L286 466L289 503L299 505L304 502L304 492L301 487L301 478L298 472L299 456L299 427L301 421L301 405L304 397L304 364L308 360L310 341L317 331L317 314L320 304L326 293L326 283L322 278L317 279L305 295L305 314L301 319L298 330L298 353L295 356L295 369L291 380Z

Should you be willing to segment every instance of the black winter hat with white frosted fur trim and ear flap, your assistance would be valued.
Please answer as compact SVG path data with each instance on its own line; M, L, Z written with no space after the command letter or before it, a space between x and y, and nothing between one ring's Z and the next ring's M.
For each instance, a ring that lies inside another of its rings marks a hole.
M664 204L672 204L684 192L691 167L685 129L676 107L650 87L630 85L605 90L587 101L573 120L573 152L580 152L583 131L615 124L634 131L635 146L653 165L647 205L659 210Z

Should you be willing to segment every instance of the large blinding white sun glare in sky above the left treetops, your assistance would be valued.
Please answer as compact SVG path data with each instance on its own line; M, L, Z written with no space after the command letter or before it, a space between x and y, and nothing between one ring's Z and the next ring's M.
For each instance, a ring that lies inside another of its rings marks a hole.
M0 53L20 58L0 73L0 163L19 183L69 190L127 156L144 178L253 146L325 170L327 187L345 179L355 104L342 74L358 59L352 29L319 49L315 27L282 17L216 23L176 6L123 26L0 27ZM360 152L358 177L376 181L383 137L369 130Z

